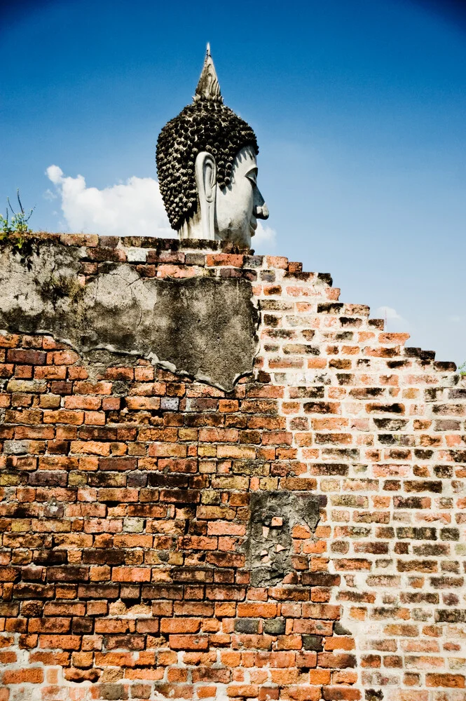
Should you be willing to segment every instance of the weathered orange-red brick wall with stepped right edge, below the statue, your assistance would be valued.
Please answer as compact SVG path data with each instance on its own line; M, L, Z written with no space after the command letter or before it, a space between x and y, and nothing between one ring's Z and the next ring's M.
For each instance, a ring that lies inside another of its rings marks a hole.
M282 257L36 239L245 278L260 346L226 393L0 335L0 701L466 701L455 365Z

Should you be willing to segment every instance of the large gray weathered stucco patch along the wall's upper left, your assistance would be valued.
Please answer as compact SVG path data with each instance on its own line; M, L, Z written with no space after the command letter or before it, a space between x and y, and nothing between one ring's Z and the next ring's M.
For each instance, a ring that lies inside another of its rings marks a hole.
M44 241L25 257L0 248L0 329L47 333L81 355L148 358L231 391L252 372L258 315L242 278L142 278L109 263L82 286L85 249Z

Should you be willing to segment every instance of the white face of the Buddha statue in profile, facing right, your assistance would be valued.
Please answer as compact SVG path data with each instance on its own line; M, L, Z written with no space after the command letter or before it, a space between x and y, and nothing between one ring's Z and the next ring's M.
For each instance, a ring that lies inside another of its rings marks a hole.
M257 219L267 218L268 208L257 187L256 154L247 146L233 161L231 182L224 189L217 185L215 232L221 239L249 247Z

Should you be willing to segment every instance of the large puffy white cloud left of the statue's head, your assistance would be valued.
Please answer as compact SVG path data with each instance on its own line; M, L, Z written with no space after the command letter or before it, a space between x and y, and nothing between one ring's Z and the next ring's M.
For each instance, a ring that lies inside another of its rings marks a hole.
M158 182L151 177L133 175L124 184L99 190L86 186L82 175L65 176L57 165L50 165L46 175L61 198L69 231L177 238L170 228Z

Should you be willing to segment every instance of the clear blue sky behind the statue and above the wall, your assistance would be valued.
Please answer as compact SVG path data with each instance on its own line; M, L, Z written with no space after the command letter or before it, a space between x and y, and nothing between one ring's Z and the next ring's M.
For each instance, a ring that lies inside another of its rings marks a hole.
M158 132L191 101L210 41L224 100L252 125L261 149L259 181L275 236L268 231L260 251L332 273L342 301L369 304L374 313L388 307L390 331L408 330L411 345L462 362L461 6L453 0L6 3L0 203L19 186L25 205L36 205L33 228L48 231L70 223L89 228L82 217L97 192L90 187L108 189L107 206L118 206L122 193L128 201L134 187L135 206L146 207ZM66 202L64 176L50 182L50 165L68 177ZM124 192L113 189L130 178ZM81 207L77 214L74 206ZM104 233L100 226L95 233Z

